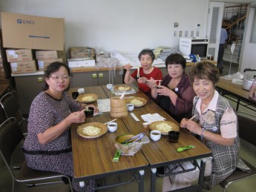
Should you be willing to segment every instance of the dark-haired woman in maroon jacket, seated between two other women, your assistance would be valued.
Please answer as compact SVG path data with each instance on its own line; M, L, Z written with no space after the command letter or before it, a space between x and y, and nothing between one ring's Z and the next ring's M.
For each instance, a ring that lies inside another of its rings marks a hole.
M183 117L191 116L195 96L185 73L186 59L178 53L173 53L165 59L165 66L168 75L163 78L161 85L154 79L151 79L148 85L157 104L180 122Z

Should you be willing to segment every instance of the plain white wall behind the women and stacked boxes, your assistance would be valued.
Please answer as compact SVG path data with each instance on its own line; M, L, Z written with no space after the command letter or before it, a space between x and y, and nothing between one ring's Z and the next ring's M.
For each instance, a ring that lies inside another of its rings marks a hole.
M174 30L201 24L206 36L208 0L1 0L4 12L65 18L65 48L99 47L137 54L145 47L177 47ZM174 22L179 27L174 28Z

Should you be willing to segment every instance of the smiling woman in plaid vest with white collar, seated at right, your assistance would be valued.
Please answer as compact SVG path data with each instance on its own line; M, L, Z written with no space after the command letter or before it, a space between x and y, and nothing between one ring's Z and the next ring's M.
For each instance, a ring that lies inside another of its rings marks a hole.
M194 98L193 117L184 118L180 122L181 128L187 128L199 136L201 142L212 152L212 157L202 159L206 162L203 188L207 190L226 179L236 168L250 171L239 158L237 115L229 102L214 89L219 78L219 70L211 62L198 62L191 67L189 79L197 93ZM192 167L191 162L183 162L181 165L186 169ZM169 168L174 170L171 173L181 170L179 165L172 165ZM188 187L191 182L198 179L198 176L198 168L174 176L165 176L163 191Z

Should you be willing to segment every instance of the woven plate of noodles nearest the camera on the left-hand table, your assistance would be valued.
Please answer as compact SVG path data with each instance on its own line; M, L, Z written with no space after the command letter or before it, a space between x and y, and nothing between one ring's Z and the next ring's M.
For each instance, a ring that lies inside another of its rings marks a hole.
M77 128L77 133L79 136L84 138L93 139L107 133L107 125L104 125L100 122L89 122L82 125L79 125Z

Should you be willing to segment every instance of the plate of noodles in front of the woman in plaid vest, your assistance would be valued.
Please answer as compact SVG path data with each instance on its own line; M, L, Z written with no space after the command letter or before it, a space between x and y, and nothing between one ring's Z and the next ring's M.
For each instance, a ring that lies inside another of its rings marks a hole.
M171 130L180 130L180 127L176 125L174 122L167 122L167 121L158 121L152 122L149 125L151 130L159 130L162 135L168 135L168 132Z

